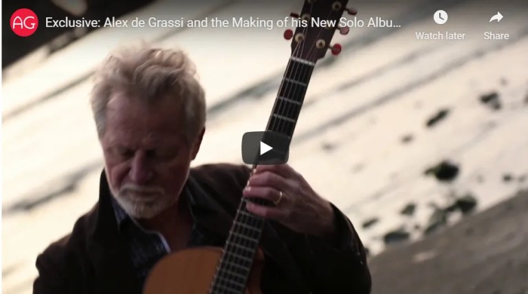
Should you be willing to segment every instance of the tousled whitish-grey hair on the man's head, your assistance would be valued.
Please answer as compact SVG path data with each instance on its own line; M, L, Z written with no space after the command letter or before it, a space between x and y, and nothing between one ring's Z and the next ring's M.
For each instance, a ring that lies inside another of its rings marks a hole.
M195 138L206 122L205 93L195 74L195 65L179 49L143 44L115 50L97 69L91 91L98 136L104 135L109 100L115 93L126 93L146 105L161 99L181 103L186 136Z

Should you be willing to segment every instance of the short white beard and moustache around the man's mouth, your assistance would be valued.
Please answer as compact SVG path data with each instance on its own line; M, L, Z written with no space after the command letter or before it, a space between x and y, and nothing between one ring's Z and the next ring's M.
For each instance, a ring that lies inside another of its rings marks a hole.
M115 201L132 218L153 218L176 201L159 187L125 184L118 193L112 192Z

